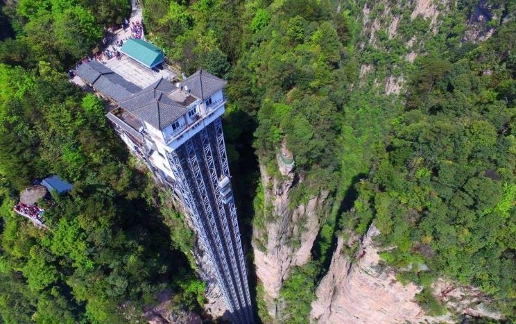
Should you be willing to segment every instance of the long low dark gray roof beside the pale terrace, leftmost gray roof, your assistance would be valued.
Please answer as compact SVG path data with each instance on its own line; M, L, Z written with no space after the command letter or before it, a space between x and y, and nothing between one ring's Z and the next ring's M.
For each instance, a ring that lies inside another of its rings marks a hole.
M96 60L83 63L76 72L98 92L119 102L141 90Z

